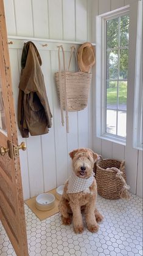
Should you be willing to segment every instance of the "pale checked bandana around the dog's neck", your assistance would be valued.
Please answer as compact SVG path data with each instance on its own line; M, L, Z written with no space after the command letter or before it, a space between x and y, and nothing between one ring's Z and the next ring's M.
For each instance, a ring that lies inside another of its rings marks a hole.
M88 189L94 180L93 175L94 173L92 173L88 179L84 179L77 177L73 171L72 175L68 179L68 193L72 194Z

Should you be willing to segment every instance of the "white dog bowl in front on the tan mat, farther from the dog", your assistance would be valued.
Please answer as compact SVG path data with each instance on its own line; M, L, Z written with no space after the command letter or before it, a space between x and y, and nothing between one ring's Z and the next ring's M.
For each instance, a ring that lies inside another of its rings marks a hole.
M49 211L55 206L55 197L50 193L40 194L36 198L36 207L40 211Z

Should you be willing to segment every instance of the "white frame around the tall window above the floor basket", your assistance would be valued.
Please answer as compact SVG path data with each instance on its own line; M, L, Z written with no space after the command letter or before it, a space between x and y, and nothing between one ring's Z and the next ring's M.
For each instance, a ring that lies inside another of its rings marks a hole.
M130 15L129 11L130 6L125 6L96 18L96 136L122 145L126 145L126 138L106 132L106 21Z

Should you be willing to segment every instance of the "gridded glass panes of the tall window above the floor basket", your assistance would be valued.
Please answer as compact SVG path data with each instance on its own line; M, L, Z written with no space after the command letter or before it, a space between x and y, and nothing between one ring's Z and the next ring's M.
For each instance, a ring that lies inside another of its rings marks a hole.
M106 21L106 132L119 137L126 137L128 24L128 15Z

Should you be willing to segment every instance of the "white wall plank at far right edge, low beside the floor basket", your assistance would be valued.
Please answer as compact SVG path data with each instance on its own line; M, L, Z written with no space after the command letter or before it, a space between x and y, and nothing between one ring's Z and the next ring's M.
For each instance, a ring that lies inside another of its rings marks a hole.
M142 197L142 151L139 150L138 154L138 175L137 175L137 187L136 194Z

